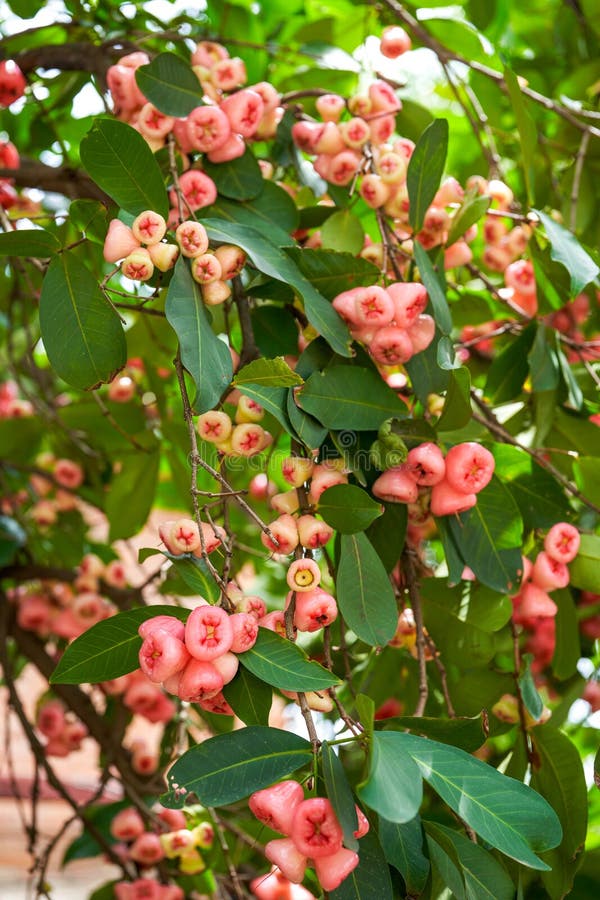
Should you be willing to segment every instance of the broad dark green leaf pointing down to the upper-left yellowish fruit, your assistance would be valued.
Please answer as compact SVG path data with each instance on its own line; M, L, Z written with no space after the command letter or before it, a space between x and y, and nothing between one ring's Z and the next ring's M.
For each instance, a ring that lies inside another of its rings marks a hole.
M167 215L169 203L158 163L144 138L117 119L95 119L81 142L81 162L125 212Z

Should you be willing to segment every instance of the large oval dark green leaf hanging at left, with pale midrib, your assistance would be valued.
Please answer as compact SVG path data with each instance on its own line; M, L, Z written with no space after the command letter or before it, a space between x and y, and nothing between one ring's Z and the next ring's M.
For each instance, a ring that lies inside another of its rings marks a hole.
M117 313L72 253L56 256L48 267L40 297L40 330L52 368L72 387L91 390L112 381L127 362Z

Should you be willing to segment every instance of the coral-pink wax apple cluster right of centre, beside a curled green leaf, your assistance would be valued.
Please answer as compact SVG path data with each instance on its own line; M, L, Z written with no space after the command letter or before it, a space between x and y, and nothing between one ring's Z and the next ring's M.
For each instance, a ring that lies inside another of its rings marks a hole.
M380 475L372 492L387 502L409 504L409 511L422 522L429 489L431 515L465 512L477 503L477 494L489 484L494 467L490 451L475 441L456 444L445 457L437 444L428 441L409 450L405 462Z

